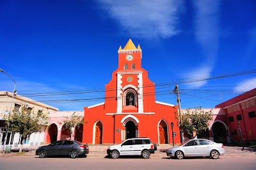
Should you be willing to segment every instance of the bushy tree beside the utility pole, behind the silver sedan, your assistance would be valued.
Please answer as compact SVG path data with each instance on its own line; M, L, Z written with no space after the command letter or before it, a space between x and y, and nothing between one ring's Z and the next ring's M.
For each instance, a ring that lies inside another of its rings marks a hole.
M176 116L176 118L178 118ZM209 121L212 120L212 111L205 112L202 107L195 107L195 109L186 109L185 113L181 114L181 128L183 132L187 132L192 137L197 134L202 134L208 130ZM195 135L193 135L195 133Z

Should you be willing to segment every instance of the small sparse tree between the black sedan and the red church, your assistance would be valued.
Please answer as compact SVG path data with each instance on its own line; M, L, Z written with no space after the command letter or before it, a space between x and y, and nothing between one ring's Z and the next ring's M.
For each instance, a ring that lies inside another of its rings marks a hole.
M72 128L75 128L77 125L83 125L84 123L87 123L87 121L84 121L83 116L79 116L74 112L71 117L64 116L63 124L65 124L65 128L68 129L68 133L72 134ZM59 122L60 125L62 125L61 122Z

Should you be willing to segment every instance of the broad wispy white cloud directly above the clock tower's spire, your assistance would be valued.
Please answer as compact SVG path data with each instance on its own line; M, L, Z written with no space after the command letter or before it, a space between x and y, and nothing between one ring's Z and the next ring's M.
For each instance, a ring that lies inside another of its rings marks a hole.
M125 31L141 38L169 38L177 35L178 0L100 0L101 8L118 20Z

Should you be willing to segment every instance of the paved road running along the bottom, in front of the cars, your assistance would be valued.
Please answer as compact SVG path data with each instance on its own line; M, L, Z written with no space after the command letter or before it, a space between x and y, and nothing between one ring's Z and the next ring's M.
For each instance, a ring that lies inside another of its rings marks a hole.
M255 169L256 154L211 158L69 158L1 157L0 169Z

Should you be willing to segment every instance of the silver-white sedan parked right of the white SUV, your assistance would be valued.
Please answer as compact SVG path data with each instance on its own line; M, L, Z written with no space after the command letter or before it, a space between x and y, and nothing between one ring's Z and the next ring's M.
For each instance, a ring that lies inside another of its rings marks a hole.
M166 150L167 156L182 159L184 157L219 158L225 154L222 143L214 143L207 139L192 139L180 146L173 146Z

